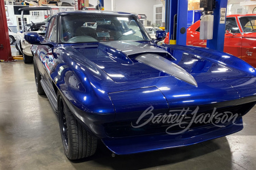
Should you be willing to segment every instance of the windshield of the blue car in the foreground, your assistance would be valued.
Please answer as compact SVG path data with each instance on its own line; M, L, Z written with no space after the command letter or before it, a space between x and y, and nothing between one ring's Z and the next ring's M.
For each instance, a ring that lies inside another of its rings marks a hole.
M85 14L61 16L61 42L149 41L135 16Z

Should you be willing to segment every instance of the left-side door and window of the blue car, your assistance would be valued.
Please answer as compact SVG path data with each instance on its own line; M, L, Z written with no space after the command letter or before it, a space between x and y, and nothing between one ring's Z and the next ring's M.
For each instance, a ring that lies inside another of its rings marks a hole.
M49 41L53 47L47 45L39 45L38 49L40 50L38 57L38 69L43 76L43 79L46 81L48 87L52 87L51 80L51 71L55 65L55 58L53 57L53 49L57 43L57 19L54 17L49 21L47 33L44 41Z

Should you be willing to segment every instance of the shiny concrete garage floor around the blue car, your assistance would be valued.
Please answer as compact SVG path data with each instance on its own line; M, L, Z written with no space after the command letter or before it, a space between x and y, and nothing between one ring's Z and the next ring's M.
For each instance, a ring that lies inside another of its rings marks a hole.
M0 169L256 169L256 107L244 129L227 137L115 158L100 142L94 156L70 161L57 116L36 92L33 66L0 63L0 90Z

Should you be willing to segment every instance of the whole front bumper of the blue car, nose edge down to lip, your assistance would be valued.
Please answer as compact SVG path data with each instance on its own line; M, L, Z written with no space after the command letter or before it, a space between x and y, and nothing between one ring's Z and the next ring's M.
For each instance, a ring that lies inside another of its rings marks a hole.
M255 96L250 96L222 103L201 105L200 107L203 108L203 111L199 112L199 114L202 112L209 113L205 111L215 107L220 108L220 110L217 110L220 111L219 113L226 111L235 113L237 111L236 113L240 114L234 121L221 124L223 127L208 123L192 125L191 128L180 134L167 134L166 125L159 125L157 127L149 125L145 126L146 128L133 129L131 122L134 123L135 119L113 122L112 114L82 112L66 100L69 109L75 114L77 120L86 129L100 138L110 151L118 155L188 146L236 133L243 129L242 116L254 107L255 101ZM167 126L170 126L170 124ZM179 129L174 129L174 131L179 131Z

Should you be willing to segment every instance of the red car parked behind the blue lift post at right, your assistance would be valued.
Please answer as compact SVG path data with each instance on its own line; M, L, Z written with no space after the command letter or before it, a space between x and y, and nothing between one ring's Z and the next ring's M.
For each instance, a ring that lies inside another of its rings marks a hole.
M206 47L207 40L200 40L199 35L200 20L187 29L187 45ZM224 52L241 58L256 67L255 14L227 16Z

